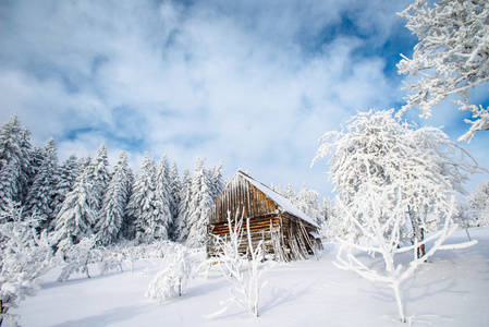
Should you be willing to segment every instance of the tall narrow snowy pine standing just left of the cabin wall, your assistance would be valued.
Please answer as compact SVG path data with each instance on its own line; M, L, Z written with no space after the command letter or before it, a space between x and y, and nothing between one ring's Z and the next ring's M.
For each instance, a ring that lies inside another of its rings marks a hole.
M212 187L204 160L197 157L191 186L191 203L188 205L188 238L190 247L204 246L207 239L207 211L212 206Z

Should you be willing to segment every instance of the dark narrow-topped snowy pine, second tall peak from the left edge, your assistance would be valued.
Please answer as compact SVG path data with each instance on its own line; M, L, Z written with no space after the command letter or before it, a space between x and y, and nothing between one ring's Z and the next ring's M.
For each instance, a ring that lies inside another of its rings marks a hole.
M56 185L59 181L59 162L54 138L51 137L46 142L44 154L42 164L27 194L25 207L26 215L38 217L41 220L40 229L50 232L54 229L54 223L51 223L51 221L56 220L54 195Z

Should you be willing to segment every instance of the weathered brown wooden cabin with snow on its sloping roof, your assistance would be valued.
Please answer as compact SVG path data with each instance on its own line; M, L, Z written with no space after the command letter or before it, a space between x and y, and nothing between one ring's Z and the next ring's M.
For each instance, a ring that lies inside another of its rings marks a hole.
M246 253L248 238L246 220L249 218L252 243L262 240L265 253L281 262L307 258L322 249L317 234L318 225L289 199L237 171L209 209L208 256L216 255L216 238L229 237L228 215L232 220L243 217L244 235L240 252Z

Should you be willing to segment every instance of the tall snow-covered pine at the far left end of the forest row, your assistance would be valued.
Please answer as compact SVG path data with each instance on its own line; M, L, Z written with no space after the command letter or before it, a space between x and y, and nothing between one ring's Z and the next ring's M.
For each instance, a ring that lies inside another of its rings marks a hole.
M0 209L10 202L23 202L29 181L29 131L21 125L15 113L0 128L0 171L4 171L0 184ZM10 177L7 177L7 174ZM7 183L9 180L9 183Z

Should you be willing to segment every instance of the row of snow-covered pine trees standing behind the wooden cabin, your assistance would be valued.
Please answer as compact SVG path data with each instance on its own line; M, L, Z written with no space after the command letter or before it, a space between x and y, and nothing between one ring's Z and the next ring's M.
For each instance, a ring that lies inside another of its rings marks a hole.
M56 141L33 147L16 114L1 126L1 149L2 222L20 210L23 218L39 220L39 232L56 231L66 245L94 235L100 245L134 240L203 246L206 211L224 187L222 164L207 169L198 157L193 174L184 169L182 178L167 155L157 164L146 153L134 173L122 152L111 169L105 144L94 158L73 154L60 164ZM326 220L318 192L305 184L297 193L290 184L271 187L317 222ZM327 199L323 207L329 207Z

